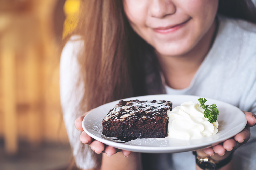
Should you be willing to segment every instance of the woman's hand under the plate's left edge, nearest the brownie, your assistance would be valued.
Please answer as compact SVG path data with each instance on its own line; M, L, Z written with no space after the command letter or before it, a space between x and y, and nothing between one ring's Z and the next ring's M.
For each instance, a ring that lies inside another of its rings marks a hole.
M97 154L100 154L102 152L105 152L106 155L108 156L112 156L114 155L115 153L119 152L119 151L122 151L123 152L123 155L125 157L127 157L131 152L130 151L126 151L126 150L119 150L117 148L114 148L114 147L111 147L111 146L108 146L108 145L105 145L97 140L94 140L93 138L91 138L87 133L84 132L83 128L82 128L82 121L85 117L85 115L87 114L88 112L86 112L85 114L83 114L82 116L80 116L79 118L77 118L75 120L75 127L77 130L81 131L81 135L80 135L80 141L84 144L87 144L87 145L90 145L91 146L91 149L97 153Z

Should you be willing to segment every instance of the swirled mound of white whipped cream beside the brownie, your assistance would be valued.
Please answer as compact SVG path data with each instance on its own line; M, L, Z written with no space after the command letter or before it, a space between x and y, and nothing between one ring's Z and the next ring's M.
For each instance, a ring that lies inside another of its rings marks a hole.
M172 111L168 111L168 137L176 139L200 139L215 135L218 122L210 123L204 117L204 109L192 101L182 103Z

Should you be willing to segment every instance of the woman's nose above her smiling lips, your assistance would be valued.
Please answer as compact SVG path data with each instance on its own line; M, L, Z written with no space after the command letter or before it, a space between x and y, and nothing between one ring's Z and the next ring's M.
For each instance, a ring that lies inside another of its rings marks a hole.
M149 13L151 17L163 18L167 15L174 14L176 6L172 0L151 0Z

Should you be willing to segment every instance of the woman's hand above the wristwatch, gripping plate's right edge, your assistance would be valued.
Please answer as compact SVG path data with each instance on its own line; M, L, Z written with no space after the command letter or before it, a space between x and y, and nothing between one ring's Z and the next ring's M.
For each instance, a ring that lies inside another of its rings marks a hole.
M251 135L250 127L253 127L256 124L256 116L251 112L244 112L244 114L247 119L247 125L242 130L242 132L238 133L236 136L224 141L219 145L203 149L203 152L210 156L213 156L214 153L223 156L226 151L234 151L241 145L247 143Z

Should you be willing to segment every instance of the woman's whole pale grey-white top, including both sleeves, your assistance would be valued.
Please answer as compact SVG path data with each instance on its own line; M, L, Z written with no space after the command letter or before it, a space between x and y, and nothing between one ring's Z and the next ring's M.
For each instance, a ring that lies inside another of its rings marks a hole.
M167 94L197 95L230 103L244 111L256 113L256 25L243 20L219 18L216 39L189 87L177 90L166 87ZM68 137L76 164L91 169L95 162L90 147L83 145L80 132L74 127L79 113L78 105L84 93L79 82L77 55L83 48L79 36L72 36L63 48L60 61L60 97ZM77 84L79 85L77 88ZM232 116L232 115L230 115ZM86 153L80 151L85 147ZM154 155L153 155L154 156ZM158 154L153 169L195 169L191 152ZM256 169L256 127L251 128L251 138L234 153L237 169ZM158 161L159 160L159 161Z

